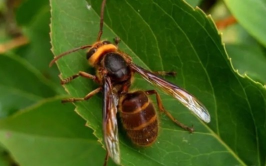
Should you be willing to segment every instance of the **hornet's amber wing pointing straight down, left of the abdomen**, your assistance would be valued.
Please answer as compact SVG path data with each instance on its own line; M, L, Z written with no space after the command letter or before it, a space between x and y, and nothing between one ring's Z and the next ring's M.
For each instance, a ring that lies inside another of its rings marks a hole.
M112 92L111 81L108 76L103 79L103 134L108 155L116 164L120 163L120 151L117 129L117 95Z

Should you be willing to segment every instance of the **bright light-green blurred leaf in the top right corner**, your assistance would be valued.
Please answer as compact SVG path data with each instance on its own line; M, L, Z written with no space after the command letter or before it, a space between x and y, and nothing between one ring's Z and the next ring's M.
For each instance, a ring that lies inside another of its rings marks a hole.
M224 0L237 21L261 44L266 46L266 1Z

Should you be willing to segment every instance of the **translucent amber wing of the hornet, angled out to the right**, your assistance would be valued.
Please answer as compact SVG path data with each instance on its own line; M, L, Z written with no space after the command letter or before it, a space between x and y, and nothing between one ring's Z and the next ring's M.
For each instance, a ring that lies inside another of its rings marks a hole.
M134 63L130 64L130 67L138 72L144 79L148 82L158 85L165 92L172 95L174 98L178 99L184 106L190 109L193 113L195 113L199 118L201 118L205 122L210 121L210 116L205 108L205 106L199 102L193 95L189 94L184 89L178 87L175 84L172 84L152 72L137 66Z

